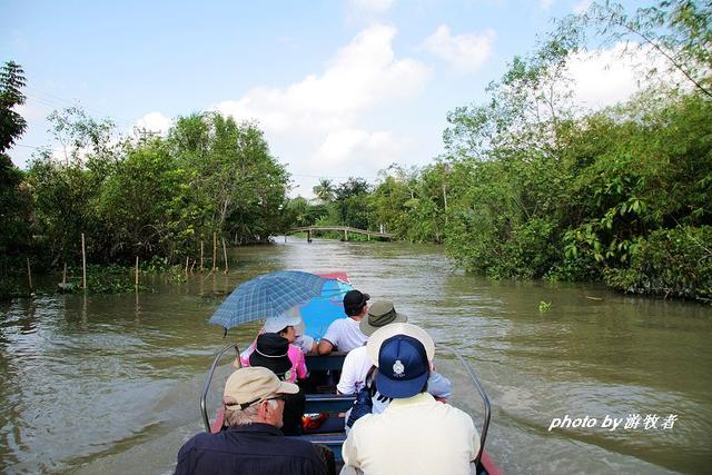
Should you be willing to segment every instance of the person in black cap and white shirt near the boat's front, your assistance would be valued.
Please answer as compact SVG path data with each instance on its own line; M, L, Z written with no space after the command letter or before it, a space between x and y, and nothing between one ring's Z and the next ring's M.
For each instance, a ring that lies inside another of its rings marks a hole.
M344 296L346 318L332 321L317 346L319 355L328 355L334 350L334 347L339 352L348 353L366 343L367 337L358 325L362 318L368 314L366 301L369 299L368 294L363 294L359 290L346 293Z

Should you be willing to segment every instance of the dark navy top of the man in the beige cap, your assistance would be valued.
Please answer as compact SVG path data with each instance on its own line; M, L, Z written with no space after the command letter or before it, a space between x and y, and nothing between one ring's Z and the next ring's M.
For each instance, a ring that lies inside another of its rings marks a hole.
M178 452L176 475L184 474L325 475L326 465L309 442L250 424L192 437Z

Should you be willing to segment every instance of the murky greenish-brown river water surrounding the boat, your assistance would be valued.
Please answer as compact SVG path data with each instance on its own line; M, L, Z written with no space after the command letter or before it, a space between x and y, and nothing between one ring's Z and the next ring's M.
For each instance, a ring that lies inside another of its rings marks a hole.
M345 270L457 348L492 399L486 448L505 473L709 473L712 308L593 285L492 283L436 246L297 238L231 249L227 276L0 304L0 472L170 473L202 429L199 392L226 344L207 319L236 285L276 269ZM438 365L481 427L463 372L445 355ZM633 414L639 427L623 428ZM548 431L566 415L595 426ZM621 425L602 428L606 416Z

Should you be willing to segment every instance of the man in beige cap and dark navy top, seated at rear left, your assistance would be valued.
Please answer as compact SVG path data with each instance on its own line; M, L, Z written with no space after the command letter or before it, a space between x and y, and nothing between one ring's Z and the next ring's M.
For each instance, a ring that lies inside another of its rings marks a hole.
M228 428L200 433L180 447L176 475L326 475L309 442L279 432L284 396L298 390L267 368L237 369L222 398Z

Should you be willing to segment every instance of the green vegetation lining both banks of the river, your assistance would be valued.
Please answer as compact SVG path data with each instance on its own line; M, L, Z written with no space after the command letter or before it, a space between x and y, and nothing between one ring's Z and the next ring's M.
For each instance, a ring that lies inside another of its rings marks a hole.
M661 1L634 13L594 3L516 57L482 102L447 116L445 152L394 164L376 184L323 179L287 199L289 176L257 125L180 117L166 137L120 138L110 121L52 115L60 159L26 171L6 150L22 132L22 71L2 72L3 259L57 268L80 258L196 261L214 237L266 241L343 225L443 244L492 278L603 280L631 293L712 301L712 4ZM586 47L642 59L646 88L613 107L576 106L568 61ZM12 127L6 128L4 117ZM334 237L340 238L340 234ZM1 276L0 276L1 279Z

